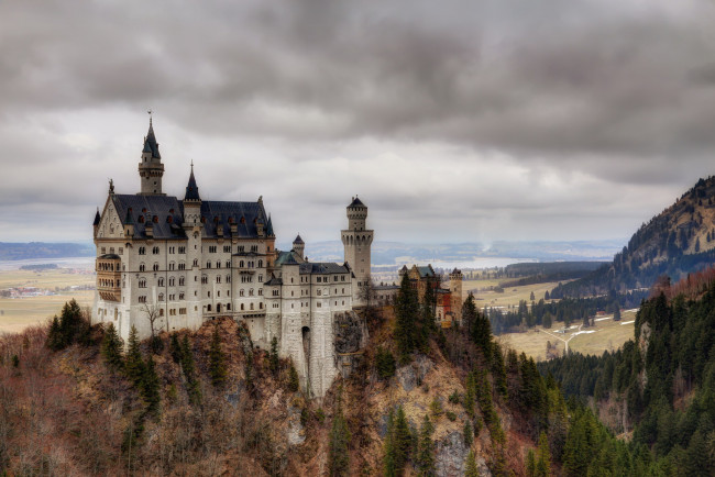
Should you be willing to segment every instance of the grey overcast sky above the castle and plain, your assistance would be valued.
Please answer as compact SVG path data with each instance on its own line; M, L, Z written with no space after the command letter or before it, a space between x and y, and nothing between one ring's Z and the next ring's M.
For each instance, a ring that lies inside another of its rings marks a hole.
M148 117L279 243L628 237L715 173L715 2L0 1L0 241L90 240Z

